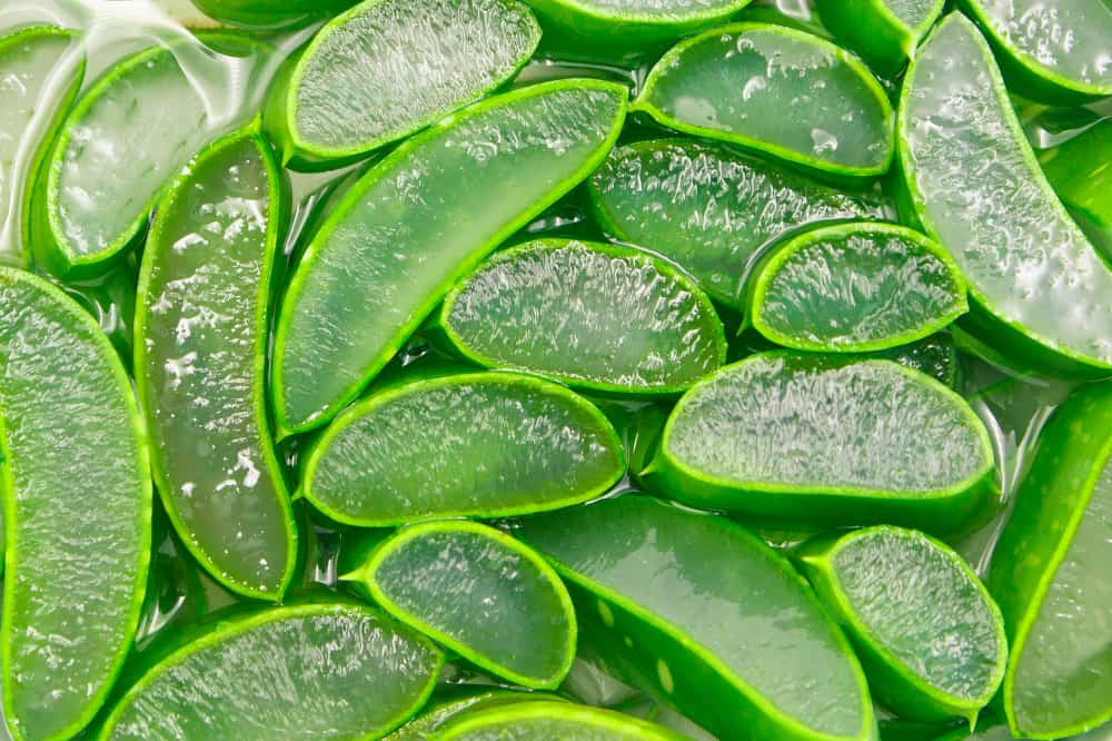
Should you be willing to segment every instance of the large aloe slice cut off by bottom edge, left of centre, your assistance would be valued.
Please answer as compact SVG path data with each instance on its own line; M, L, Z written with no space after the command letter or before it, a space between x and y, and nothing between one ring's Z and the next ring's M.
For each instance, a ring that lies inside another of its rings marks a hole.
M369 739L428 699L444 655L367 606L274 607L217 623L127 691L98 739Z

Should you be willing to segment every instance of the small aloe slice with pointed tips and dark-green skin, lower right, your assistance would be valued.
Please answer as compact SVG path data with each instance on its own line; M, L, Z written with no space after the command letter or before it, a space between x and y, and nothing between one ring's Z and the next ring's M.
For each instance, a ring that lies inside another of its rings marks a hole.
M967 718L973 728L1004 679L1007 636L960 555L884 525L816 539L800 560L886 708L923 721Z

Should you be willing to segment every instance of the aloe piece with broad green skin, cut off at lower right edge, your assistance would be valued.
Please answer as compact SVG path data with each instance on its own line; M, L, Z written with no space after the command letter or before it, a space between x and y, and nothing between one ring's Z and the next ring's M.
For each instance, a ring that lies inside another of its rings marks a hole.
M1112 720L1110 460L1112 385L1082 387L1043 428L994 551L1015 735L1059 739Z

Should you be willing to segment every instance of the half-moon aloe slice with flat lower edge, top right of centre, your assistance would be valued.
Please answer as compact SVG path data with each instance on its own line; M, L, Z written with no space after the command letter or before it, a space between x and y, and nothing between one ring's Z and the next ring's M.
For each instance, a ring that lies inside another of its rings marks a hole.
M865 66L811 33L737 23L681 41L633 106L668 128L847 177L892 161L892 106Z

